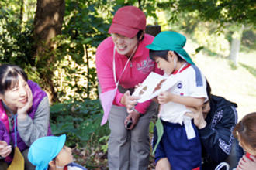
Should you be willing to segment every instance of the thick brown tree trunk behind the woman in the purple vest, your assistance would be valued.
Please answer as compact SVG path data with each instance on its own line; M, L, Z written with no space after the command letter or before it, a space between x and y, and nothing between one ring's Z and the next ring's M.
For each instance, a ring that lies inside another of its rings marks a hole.
M35 66L40 73L40 85L50 94L51 101L57 101L57 92L52 80L54 76L55 36L61 34L64 18L64 0L37 0L34 19Z

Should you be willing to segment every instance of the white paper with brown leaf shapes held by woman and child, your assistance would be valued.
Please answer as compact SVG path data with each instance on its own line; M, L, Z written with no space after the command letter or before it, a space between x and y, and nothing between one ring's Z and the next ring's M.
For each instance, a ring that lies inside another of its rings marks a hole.
M144 80L142 85L138 87L132 96L139 96L140 99L137 102L142 103L144 101L157 97L162 91L166 91L173 87L177 83L176 76L161 76L160 74L151 72Z

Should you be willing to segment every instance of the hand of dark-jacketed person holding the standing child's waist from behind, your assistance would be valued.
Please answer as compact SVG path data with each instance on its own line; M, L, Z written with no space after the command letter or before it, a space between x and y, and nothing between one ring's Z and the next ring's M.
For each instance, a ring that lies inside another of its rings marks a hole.
M202 129L206 127L206 120L203 117L202 114L202 107L187 107L189 110L192 111L189 113L186 113L186 116L192 117L194 119L194 124L197 126L197 128Z

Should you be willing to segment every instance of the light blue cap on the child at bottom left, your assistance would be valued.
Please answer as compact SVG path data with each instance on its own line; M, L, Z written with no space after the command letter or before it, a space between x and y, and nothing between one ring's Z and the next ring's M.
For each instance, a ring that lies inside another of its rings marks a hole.
M36 170L47 170L49 162L60 153L65 141L66 134L36 139L29 148L29 162L36 166Z

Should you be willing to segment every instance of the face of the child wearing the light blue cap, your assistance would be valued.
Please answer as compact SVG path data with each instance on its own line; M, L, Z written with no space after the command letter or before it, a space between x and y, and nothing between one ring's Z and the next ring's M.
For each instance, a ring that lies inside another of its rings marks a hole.
M73 155L71 152L71 148L64 145L59 154L56 157L56 165L57 166L65 166L73 162Z

